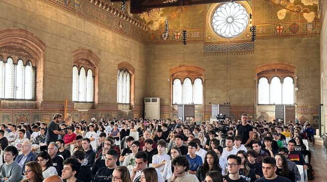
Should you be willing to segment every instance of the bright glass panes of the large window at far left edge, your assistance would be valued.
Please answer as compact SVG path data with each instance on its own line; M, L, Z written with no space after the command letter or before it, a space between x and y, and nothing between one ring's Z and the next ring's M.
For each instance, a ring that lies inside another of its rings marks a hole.
M0 61L0 98L34 99L34 69L30 61L24 65L22 59L17 63L11 57Z

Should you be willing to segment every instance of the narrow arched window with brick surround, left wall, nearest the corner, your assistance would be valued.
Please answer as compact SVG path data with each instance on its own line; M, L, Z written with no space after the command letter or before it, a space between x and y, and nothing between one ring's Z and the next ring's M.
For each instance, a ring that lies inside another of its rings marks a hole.
M127 62L117 68L117 103L134 105L134 67Z

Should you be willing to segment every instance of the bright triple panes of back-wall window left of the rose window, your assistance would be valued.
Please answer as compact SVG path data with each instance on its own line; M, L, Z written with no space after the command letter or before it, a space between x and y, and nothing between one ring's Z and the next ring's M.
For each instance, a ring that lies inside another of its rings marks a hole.
M173 104L202 104L202 80L197 78L192 84L189 78L185 78L183 83L175 79L172 84L172 102Z

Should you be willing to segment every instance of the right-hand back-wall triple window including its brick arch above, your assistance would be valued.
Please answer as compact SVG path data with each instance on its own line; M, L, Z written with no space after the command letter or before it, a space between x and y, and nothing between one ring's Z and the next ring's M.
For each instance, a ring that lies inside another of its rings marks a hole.
M296 67L286 63L268 63L256 68L258 104L294 104Z

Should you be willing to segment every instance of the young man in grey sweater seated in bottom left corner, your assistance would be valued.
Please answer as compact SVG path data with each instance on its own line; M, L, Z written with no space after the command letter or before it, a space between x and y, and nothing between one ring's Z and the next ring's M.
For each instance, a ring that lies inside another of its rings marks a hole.
M3 163L0 166L0 182L19 182L22 178L22 168L13 160L18 155L14 146L4 149Z

